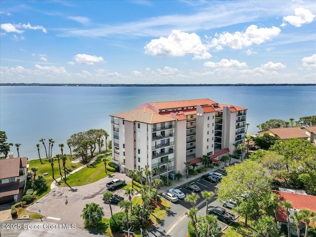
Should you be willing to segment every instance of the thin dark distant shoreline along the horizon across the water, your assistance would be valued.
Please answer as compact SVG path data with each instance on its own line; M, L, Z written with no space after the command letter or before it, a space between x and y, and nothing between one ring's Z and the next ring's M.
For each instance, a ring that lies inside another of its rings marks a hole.
M315 84L77 84L77 83L0 83L0 86L316 86Z

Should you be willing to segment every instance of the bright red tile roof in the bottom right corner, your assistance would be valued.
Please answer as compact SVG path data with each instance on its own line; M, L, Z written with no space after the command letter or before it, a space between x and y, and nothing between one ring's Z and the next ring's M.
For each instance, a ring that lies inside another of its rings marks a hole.
M306 194L294 194L276 190L273 190L272 192L280 196L279 202L291 202L294 209L309 209L311 211L316 211L316 196ZM278 210L276 210L276 220L280 222L287 222L287 216L285 214L284 208L278 208Z

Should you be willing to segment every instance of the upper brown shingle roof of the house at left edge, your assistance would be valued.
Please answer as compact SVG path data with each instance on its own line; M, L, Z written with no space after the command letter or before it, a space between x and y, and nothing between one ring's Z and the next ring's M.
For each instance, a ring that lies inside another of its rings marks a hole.
M0 159L0 179L18 177L20 164L21 158Z

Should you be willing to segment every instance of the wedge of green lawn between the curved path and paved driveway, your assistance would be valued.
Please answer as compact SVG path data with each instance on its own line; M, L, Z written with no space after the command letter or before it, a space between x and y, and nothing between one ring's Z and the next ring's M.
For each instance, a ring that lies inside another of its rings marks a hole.
M111 158L111 155L104 155L97 158L92 164L87 165L86 167L77 171L77 173L72 174L67 177L67 183L74 186L81 186L86 184L91 184L96 182L109 174L113 174L114 172L108 171L108 174L105 173L103 158ZM60 181L60 186L67 186L62 180Z

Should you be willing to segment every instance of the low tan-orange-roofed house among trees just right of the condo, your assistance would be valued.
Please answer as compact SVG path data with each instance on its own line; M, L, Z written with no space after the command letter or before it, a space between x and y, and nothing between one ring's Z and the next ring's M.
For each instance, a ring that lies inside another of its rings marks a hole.
M259 137L262 137L265 133L282 140L287 140L294 137L310 140L310 135L308 135L301 127L270 128L260 131Z

